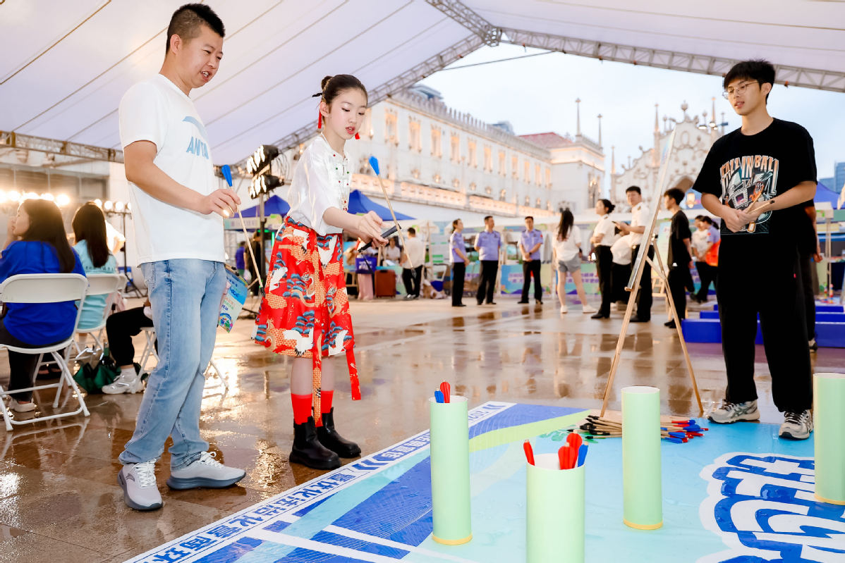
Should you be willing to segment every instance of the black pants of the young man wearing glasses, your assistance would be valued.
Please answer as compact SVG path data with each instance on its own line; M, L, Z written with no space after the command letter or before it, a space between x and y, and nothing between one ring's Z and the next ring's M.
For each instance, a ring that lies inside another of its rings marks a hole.
M734 403L757 398L754 340L757 314L771 373L771 395L781 411L803 411L813 404L810 349L804 316L804 288L798 252L734 256L719 249L716 295L722 323L722 351L728 371L725 397Z

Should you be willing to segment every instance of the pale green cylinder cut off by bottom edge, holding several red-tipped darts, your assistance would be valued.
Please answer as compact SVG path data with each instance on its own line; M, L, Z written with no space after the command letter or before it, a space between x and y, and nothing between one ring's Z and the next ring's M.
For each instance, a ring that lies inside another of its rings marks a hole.
M584 466L560 469L558 455L526 463L527 563L584 563Z

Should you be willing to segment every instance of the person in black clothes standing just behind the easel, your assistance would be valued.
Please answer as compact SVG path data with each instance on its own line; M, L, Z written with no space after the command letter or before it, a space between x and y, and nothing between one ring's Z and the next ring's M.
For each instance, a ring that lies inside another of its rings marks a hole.
M684 199L684 192L677 187L667 190L663 194L663 205L673 213L672 228L669 234L669 292L678 313L679 320L686 318L686 290L695 291L692 282L692 252L690 251L690 219L681 211L680 203ZM675 320L666 323L668 328L675 328Z

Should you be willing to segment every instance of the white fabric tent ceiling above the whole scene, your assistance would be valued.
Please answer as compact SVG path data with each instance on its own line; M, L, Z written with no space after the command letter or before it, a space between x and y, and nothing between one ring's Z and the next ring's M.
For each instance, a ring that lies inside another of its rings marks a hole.
M0 0L0 130L119 149L117 103L156 73L182 0ZM371 102L485 43L721 75L766 57L780 82L845 91L845 3L790 0L212 0L215 79L192 96L218 163L313 133L325 74ZM493 94L493 93L491 93Z

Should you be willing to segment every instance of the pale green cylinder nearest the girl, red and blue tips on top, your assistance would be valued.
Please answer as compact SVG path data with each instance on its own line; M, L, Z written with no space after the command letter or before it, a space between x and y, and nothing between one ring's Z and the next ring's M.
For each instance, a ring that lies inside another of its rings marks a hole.
M466 397L428 399L431 413L431 501L434 541L466 544L470 517L470 439Z

